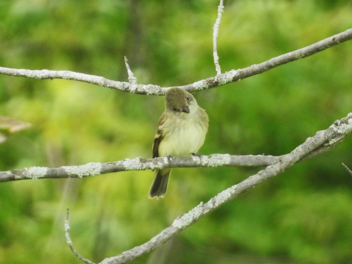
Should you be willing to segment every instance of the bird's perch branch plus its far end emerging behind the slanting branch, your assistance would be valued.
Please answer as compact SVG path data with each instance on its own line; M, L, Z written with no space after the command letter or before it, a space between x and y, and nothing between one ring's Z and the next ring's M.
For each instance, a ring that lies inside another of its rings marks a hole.
M303 161L325 153L344 140L352 131L352 113L349 113L345 118L336 120L333 125L322 132L327 133L332 127L336 130L335 133L329 134L330 136L326 142L323 142L324 144L315 147L312 151L300 157L298 161ZM289 155L290 154L281 156L212 154L201 157L174 157L171 159L166 157L153 159L136 157L116 162L90 162L79 166L61 166L59 168L31 167L22 170L0 171L0 182L44 178L82 178L111 172L155 170L162 168L268 166L283 161Z

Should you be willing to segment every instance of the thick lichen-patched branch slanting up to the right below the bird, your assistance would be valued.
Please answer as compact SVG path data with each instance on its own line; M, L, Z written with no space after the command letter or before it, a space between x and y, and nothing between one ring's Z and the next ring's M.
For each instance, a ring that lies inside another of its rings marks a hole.
M191 224L195 223L203 216L211 212L212 210L220 207L227 201L232 200L234 197L243 193L258 183L268 180L269 178L278 175L285 171L290 166L300 161L303 157L307 156L308 153L318 149L320 146L330 142L334 138L338 138L339 135L345 133L351 133L352 131L352 113L341 120L335 121L328 129L318 131L315 136L309 137L300 146L296 147L288 155L282 156L282 158L275 164L267 166L265 169L260 170L257 174L248 177L246 180L231 186L230 188L222 191L206 203L200 203L195 208L191 209L188 213L178 217L171 226L164 229L161 233L157 234L148 242L134 247L131 250L122 252L118 256L104 259L100 264L119 264L126 263L132 259L138 258L147 252L155 249L161 244L165 243L175 234L181 232Z

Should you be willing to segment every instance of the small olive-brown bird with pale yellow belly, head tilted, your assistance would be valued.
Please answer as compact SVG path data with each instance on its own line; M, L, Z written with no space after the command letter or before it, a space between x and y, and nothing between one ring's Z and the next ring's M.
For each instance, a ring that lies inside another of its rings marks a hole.
M165 94L165 111L158 121L153 142L153 158L188 157L203 145L208 131L208 115L193 95L181 88L170 88ZM171 169L157 169L149 198L164 197Z

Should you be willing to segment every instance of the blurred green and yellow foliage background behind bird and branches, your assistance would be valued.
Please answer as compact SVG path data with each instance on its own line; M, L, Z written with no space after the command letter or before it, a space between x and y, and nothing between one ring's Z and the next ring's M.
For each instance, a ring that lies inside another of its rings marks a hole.
M164 87L214 76L218 1L0 2L0 65L72 70ZM350 28L351 1L225 1L223 71L244 68ZM351 112L352 42L195 94L210 123L202 154L290 152ZM163 97L87 83L0 76L0 115L29 122L0 145L0 169L151 157ZM350 263L352 139L296 164L131 263ZM100 262L149 240L200 201L258 168L174 169L164 199L154 173L0 184L0 263Z

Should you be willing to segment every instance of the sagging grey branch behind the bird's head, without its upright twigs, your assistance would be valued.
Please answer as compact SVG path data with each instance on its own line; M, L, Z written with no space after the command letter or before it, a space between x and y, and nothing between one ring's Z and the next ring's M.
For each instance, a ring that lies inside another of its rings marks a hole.
M335 46L350 39L352 39L352 29L348 29L332 37L323 39L305 48L295 50L275 58L271 58L268 61L259 64L253 64L252 66L244 69L230 70L218 76L210 77L205 80L197 81L195 83L179 87L188 90L188 92L196 92L200 90L222 86L227 83L236 82L253 75L264 73L265 71L268 71L279 65L308 57L319 51L331 48L332 46ZM170 88L160 87L153 84L132 85L128 82L112 81L104 77L75 73L73 71L25 70L0 67L0 74L37 79L67 79L82 81L136 94L164 95L166 90Z

